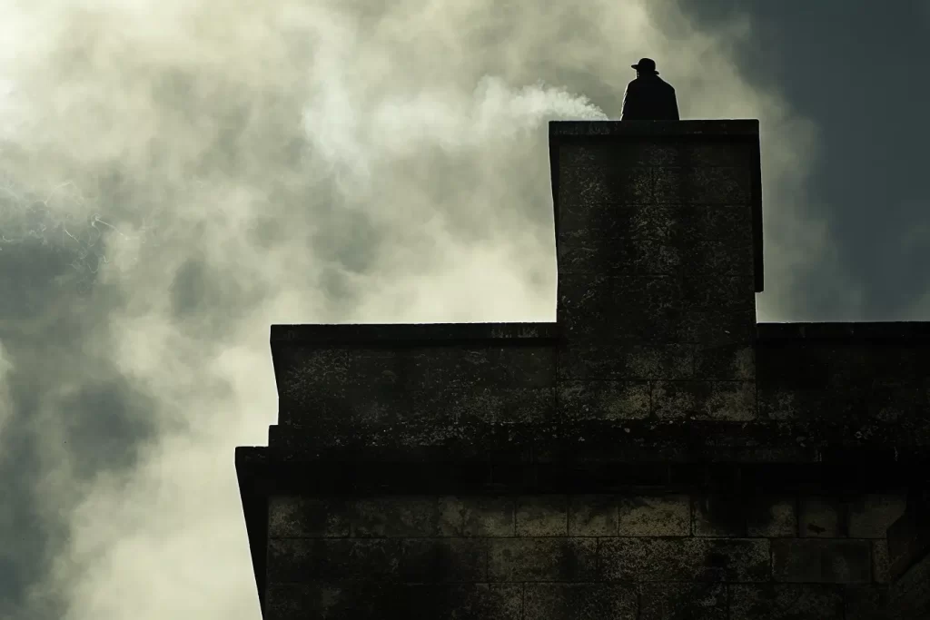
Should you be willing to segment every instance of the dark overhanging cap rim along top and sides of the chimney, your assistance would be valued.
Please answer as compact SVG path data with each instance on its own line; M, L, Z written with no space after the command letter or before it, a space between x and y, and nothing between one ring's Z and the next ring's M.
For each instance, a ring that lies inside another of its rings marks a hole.
M549 124L549 164L552 184L552 210L555 220L555 241L559 239L559 146L598 141L616 142L623 139L720 141L749 140L752 150L751 198L753 276L755 292L764 291L764 251L762 218L762 153L758 119L727 119L700 121L551 121Z

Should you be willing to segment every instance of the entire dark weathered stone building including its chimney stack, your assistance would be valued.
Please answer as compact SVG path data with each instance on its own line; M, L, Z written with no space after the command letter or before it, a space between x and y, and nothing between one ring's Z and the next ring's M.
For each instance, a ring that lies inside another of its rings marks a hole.
M264 617L930 618L930 323L756 323L758 127L552 123L556 323L272 326Z

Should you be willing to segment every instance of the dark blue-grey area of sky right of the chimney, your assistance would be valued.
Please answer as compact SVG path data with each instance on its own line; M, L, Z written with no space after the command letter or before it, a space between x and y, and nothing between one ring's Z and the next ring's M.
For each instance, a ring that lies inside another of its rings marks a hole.
M753 36L736 43L734 56L742 73L777 86L817 124L821 150L805 207L827 223L842 279L817 263L805 266L790 296L791 318L930 320L930 3L680 6L711 29L748 15Z

